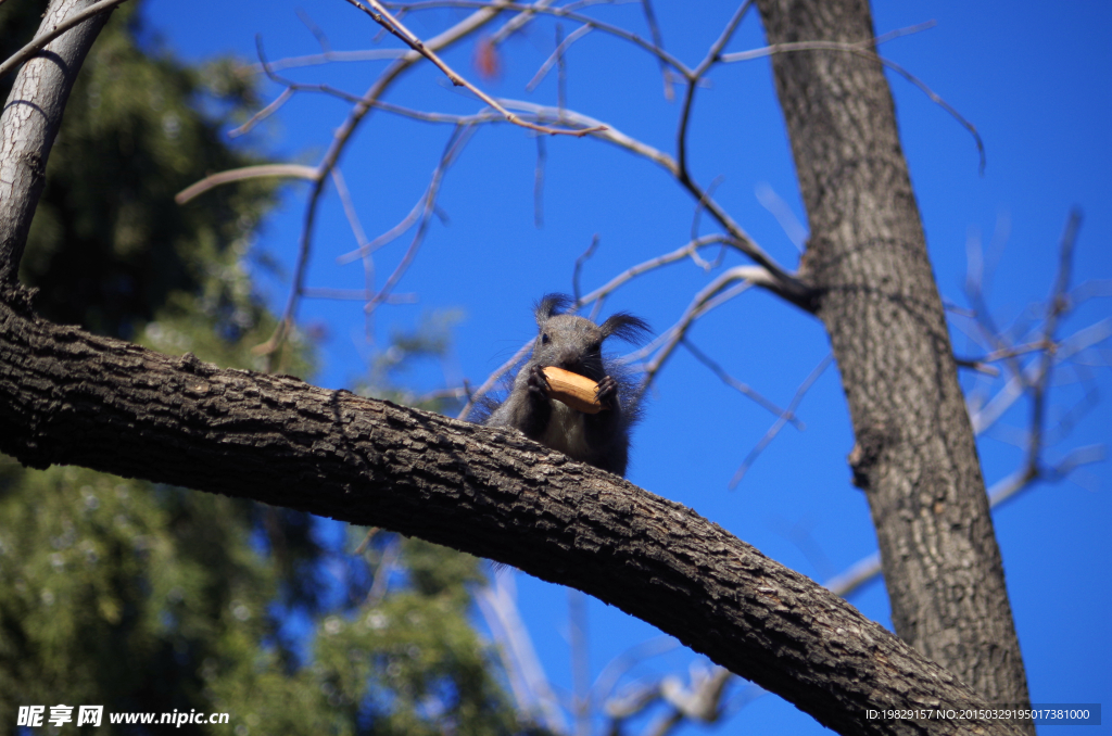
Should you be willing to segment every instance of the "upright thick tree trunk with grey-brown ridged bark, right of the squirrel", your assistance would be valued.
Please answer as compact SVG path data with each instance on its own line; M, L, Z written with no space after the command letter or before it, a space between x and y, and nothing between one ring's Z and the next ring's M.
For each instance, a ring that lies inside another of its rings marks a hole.
M758 0L770 43L874 37L865 0ZM881 64L773 58L817 290L896 633L992 703L1027 703L973 430ZM1031 729L1033 732L1033 727Z

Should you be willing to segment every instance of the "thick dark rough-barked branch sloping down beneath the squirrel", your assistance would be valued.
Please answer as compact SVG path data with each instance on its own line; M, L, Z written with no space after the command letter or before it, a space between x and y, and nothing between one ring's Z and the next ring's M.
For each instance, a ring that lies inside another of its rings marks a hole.
M374 525L617 606L843 734L1019 733L868 719L973 690L822 586L694 511L480 427L0 305L0 450Z

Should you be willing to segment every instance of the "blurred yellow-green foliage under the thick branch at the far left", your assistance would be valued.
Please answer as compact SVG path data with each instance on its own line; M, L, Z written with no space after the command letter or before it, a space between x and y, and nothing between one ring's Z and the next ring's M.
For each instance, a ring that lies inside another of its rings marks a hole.
M206 663L268 628L247 503L79 468L0 475L0 713L205 705ZM7 726L13 725L11 722Z

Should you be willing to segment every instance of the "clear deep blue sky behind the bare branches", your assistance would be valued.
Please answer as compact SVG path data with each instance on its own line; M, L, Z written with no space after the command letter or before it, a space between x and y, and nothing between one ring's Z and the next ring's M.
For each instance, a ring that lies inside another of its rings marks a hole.
M734 2L664 2L655 6L665 47L694 64L717 37ZM271 59L316 52L319 47L297 9L329 37L332 48L368 48L377 28L342 0L149 0L147 16L168 46L187 60L217 53L254 58L258 34ZM597 17L645 33L638 4L599 8ZM431 36L459 16L436 11L409 16L409 27ZM987 156L979 173L972 137L920 90L890 74L904 150L925 223L943 296L965 305L962 281L966 241L979 232L996 256L989 301L999 321L1022 316L1044 299L1056 266L1058 242L1071 208L1084 212L1074 281L1112 279L1112 6L1100 1L874 2L877 33L934 20L931 30L896 39L882 53L916 74L976 126ZM569 32L572 26L566 26ZM504 73L480 82L495 96L554 103L549 76L532 95L524 90L553 49L550 24L512 38L502 49ZM387 43L388 46L393 46ZM751 13L727 51L763 46ZM474 44L447 54L475 81ZM590 33L572 47L567 105L674 152L678 106L662 96L653 59L627 43ZM426 64L427 67L427 64ZM316 67L290 76L327 81L361 92L381 62ZM704 185L721 177L716 198L754 239L794 268L797 250L758 192L772 190L805 221L783 121L766 60L717 67L698 91L692 122L691 160ZM276 96L280 89L268 88ZM480 103L454 91L430 69L418 69L388 95L390 101L425 110L467 113ZM340 125L346 105L302 95L250 139L277 160L312 163ZM371 236L398 222L421 196L449 128L375 113L341 160L363 227ZM599 238L597 255L583 272L585 290L629 266L673 250L689 237L693 202L656 166L589 139L549 138L544 226L534 223L536 141L513 126L480 130L449 171L439 199L446 221L435 221L414 266L398 287L417 304L377 314L380 337L411 327L423 314L460 309L451 358L415 376L437 388L467 378L480 382L534 330L530 304L546 291L570 290L575 259ZM291 186L282 208L262 232L258 248L291 265L306 188ZM703 231L709 232L706 218ZM1006 235L1006 238L1004 237ZM378 255L379 284L401 258L408 238ZM1003 242L1003 249L991 246ZM360 288L356 265L336 258L355 245L339 201L330 193L315 231L309 285ZM741 261L736 257L727 265ZM659 331L672 325L709 278L691 262L677 263L617 292L604 315L628 309ZM276 307L287 284L265 284ZM1109 317L1110 300L1093 299L1063 326L1062 335ZM350 387L365 370L367 344L356 302L307 301L302 324L327 328L325 365L317 382ZM956 322L955 322L956 325ZM977 355L959 329L960 355ZM702 320L692 332L698 348L731 375L773 401L786 405L800 382L828 350L821 325L767 295L751 291ZM1103 354L1108 357L1109 345ZM1091 362L1101 358L1088 356ZM1069 409L1095 387L1103 404L1092 408L1048 458L1109 440L1112 380L1108 367L1088 369L1086 382L1063 371L1052 389L1054 405ZM972 376L964 376L973 386ZM982 437L989 484L1017 467L1011 444L1026 409L1017 407ZM868 509L850 484L845 456L853 440L835 370L827 370L804 399L805 431L786 429L735 489L731 477L761 439L773 417L722 385L689 354L677 352L654 390L645 422L635 437L631 480L696 509L755 545L770 557L824 580L875 550ZM1011 428L1011 429L1009 429ZM1032 698L1039 703L1110 702L1108 627L1112 589L1112 470L1086 466L1076 483L1042 484L1000 509L995 526L1027 666ZM567 688L570 670L566 594L519 576L520 607L553 680ZM883 587L874 583L851 601L890 625ZM648 625L597 601L590 603L592 665L597 672L626 647L656 635ZM653 666L682 668L691 655L674 653ZM731 728L766 733L817 733L808 716L774 696L746 706Z

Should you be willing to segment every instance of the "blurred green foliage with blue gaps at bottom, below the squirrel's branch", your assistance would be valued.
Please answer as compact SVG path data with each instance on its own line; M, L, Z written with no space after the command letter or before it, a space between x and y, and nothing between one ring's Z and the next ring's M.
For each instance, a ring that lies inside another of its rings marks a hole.
M324 618L310 666L281 677L270 663L244 659L216 686L216 707L236 707L267 734L536 733L517 723L468 619L466 585L481 578L479 560L394 535L376 538L365 556L376 579L440 567L435 591L373 586L357 606Z

